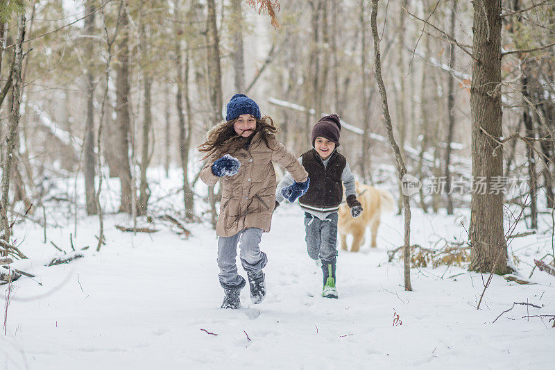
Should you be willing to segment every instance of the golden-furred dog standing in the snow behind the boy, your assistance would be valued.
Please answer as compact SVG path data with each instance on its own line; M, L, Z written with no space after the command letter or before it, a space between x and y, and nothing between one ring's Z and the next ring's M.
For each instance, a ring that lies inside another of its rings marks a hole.
M382 212L393 210L393 196L385 190L376 189L373 186L361 184L357 181L357 199L362 205L362 213L359 217L352 217L351 210L344 201L339 206L338 230L341 238L341 249L347 251L347 235L352 235L351 252L358 252L364 244L364 233L370 226L372 242L370 246L376 246L377 228L379 226Z

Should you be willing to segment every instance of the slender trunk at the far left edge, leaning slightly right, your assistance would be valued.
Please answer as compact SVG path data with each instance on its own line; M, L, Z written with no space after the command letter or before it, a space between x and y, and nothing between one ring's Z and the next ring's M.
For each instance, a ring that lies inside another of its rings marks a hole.
M19 125L19 105L21 104L22 92L22 65L23 65L23 41L25 39L25 13L19 18L17 24L17 40L15 42L15 54L12 71L12 107L10 110L8 135L6 137L6 158L2 166L1 204L0 218L4 230L3 239L10 241L10 224L8 222L8 195L10 191L10 173L12 171L12 153L17 140L17 126ZM3 255L7 255L3 253Z

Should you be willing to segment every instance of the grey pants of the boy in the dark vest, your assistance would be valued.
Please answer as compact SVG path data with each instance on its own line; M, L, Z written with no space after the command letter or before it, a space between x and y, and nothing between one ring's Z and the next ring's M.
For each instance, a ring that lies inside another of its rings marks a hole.
M305 212L307 251L313 260L335 263L337 256L337 212L324 220Z

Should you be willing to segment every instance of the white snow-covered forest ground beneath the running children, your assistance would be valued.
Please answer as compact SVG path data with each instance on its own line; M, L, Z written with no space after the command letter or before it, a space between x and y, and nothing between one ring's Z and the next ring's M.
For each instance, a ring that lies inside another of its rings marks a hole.
M73 186L73 185L71 185ZM178 196L175 196L178 203ZM413 244L465 236L468 210L455 216L413 209ZM71 221L71 220L70 220ZM548 217L540 224L549 230ZM155 219L157 233L122 233L125 215L105 219L106 245L94 252L96 217L80 218L76 248L85 258L43 267L66 251L67 226L44 230L31 221L15 226L31 257L12 266L31 272L12 284L7 335L0 336L0 369L549 369L553 364L555 278L536 271L536 285L459 267L413 269L413 292L402 286L402 264L387 251L402 244L402 217L384 215L377 249L339 251L339 299L321 297L321 270L306 252L302 212L296 204L275 212L262 237L268 254L268 295L239 310L221 310L216 236L207 224L188 224L184 240ZM517 228L522 230L524 224ZM551 237L513 239L509 254L527 277L533 258L551 251ZM59 254L59 253L58 253ZM239 271L244 274L238 260ZM0 287L2 303L7 286ZM493 321L513 302L516 305ZM402 324L394 321L395 317ZM4 316L2 304L1 317ZM394 325L397 323L397 325ZM205 331L206 330L206 331ZM207 333L209 332L209 333ZM213 333L213 334L210 334Z

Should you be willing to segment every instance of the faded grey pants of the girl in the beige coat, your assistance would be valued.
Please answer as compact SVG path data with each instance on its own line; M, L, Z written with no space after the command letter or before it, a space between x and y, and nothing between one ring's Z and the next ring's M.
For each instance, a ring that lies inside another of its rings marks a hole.
M237 274L237 244L241 249L239 258L247 272L262 271L268 258L260 251L262 228L246 228L231 237L218 238L218 267L220 268L220 285L225 289L240 289L245 279Z

